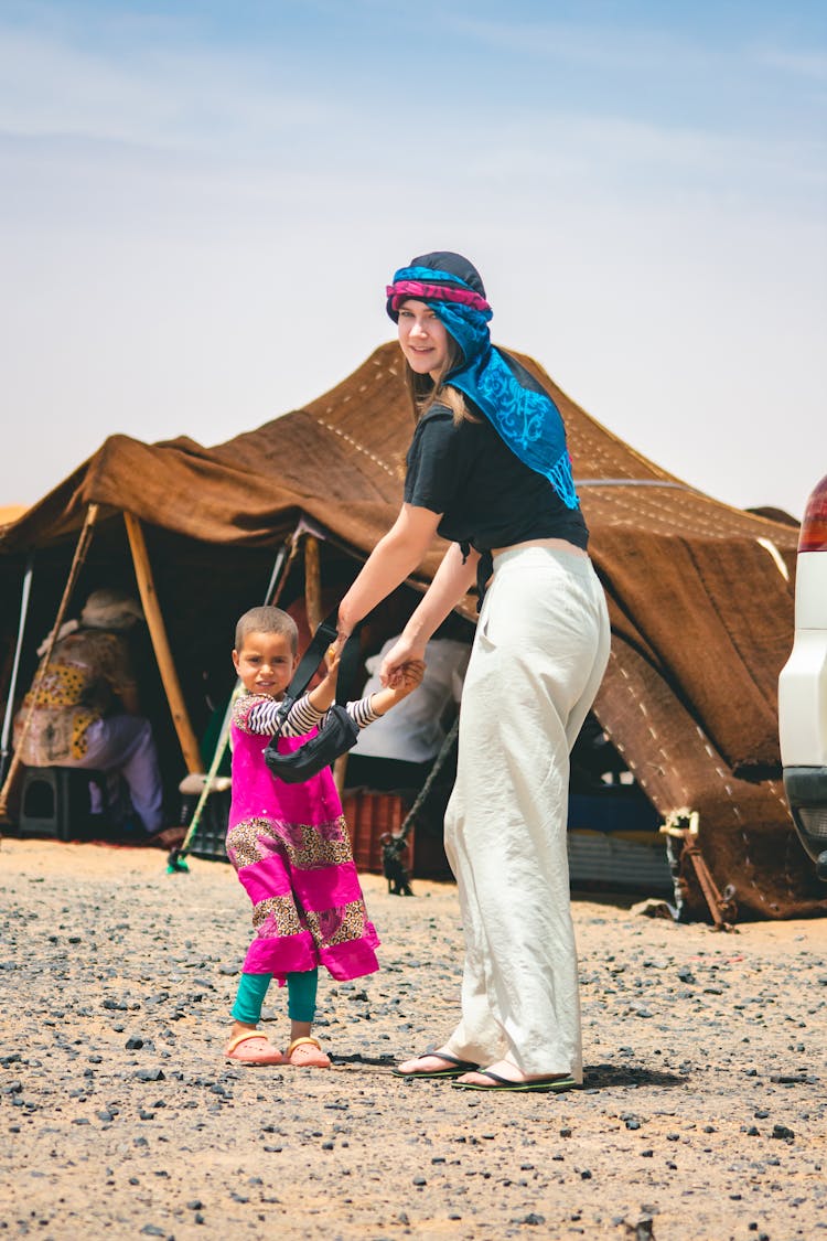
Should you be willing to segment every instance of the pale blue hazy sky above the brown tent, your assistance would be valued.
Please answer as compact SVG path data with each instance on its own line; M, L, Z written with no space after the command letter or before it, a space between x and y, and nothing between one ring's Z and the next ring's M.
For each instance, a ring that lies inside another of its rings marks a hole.
M800 517L826 154L821 0L0 0L0 506L109 434L314 400L393 338L394 269L455 249L496 343Z

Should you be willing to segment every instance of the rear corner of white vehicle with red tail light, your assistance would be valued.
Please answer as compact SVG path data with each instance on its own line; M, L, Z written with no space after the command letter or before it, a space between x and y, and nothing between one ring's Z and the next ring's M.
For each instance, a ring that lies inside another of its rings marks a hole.
M801 844L827 881L827 478L801 524L795 625L779 678L784 787Z

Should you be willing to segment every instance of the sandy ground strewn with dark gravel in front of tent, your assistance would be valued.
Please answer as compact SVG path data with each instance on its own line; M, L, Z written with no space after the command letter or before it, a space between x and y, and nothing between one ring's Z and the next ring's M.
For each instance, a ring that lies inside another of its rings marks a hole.
M827 1241L827 922L577 896L585 1088L491 1096L391 1075L453 1025L461 928L384 889L382 972L320 985L334 1069L245 1070L229 866L4 840L0 1236Z

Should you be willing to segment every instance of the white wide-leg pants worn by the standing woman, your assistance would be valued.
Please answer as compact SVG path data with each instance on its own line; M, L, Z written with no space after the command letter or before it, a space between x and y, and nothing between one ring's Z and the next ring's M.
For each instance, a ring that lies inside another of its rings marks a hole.
M445 850L465 933L462 1018L446 1047L482 1066L583 1080L569 901L569 752L609 659L591 562L495 557L460 711Z

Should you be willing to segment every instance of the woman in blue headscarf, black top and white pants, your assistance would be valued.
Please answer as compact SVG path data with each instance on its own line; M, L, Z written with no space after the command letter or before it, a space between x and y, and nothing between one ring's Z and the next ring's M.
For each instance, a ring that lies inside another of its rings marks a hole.
M569 751L609 656L603 589L585 547L548 393L495 349L491 308L462 256L414 258L387 290L417 429L404 503L338 613L340 642L450 540L383 680L476 580L480 619L462 691L445 815L466 941L462 1015L410 1077L472 1090L565 1090L583 1081L565 828Z

